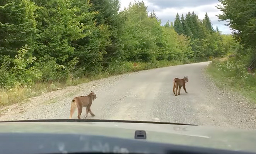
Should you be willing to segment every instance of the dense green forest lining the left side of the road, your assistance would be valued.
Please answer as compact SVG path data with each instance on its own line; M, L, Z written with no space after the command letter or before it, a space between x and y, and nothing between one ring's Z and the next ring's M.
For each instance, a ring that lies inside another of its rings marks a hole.
M242 8L232 8L236 9ZM232 17L220 16L223 20ZM251 24L253 21L255 18ZM253 35L250 26L237 33L242 42L248 42L248 50L255 44L253 38L248 38ZM48 85L42 85L203 62L242 48L231 35L213 27L207 13L202 20L195 12L177 13L174 22L162 23L144 2L130 3L120 10L119 0L0 1L2 94L36 84L41 85L36 90L50 91ZM3 97L2 102L17 100Z

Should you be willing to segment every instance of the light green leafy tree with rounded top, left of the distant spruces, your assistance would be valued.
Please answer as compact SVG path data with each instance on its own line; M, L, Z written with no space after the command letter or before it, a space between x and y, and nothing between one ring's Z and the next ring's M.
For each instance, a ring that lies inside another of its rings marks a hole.
M148 17L147 7L143 2L134 3L122 15L126 18L121 32L125 59L133 62L153 62L158 50L160 23L155 18Z

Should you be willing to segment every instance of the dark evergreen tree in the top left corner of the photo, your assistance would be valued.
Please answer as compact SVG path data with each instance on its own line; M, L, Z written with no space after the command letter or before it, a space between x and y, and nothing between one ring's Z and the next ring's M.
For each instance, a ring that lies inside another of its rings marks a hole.
M14 57L25 44L34 45L35 11L36 6L29 0L0 1L0 55Z

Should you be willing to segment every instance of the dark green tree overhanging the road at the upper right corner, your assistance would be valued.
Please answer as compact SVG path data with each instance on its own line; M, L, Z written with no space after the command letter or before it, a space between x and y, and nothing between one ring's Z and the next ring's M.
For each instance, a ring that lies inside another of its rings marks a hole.
M247 66L249 69L256 68L256 1L232 1L219 0L222 5L218 5L223 14L219 15L222 21L227 20L227 25L233 29L233 36L240 42L245 50L240 50L239 55L250 54ZM249 51L252 52L244 52ZM241 59L242 60L242 59Z

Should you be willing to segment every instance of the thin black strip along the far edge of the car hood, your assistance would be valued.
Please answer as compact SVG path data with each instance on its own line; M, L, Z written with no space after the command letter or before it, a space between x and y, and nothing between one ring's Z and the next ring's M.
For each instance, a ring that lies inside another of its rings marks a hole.
M186 125L198 126L194 124L182 124L174 122L155 122L155 121L126 121L126 120L103 120L103 119L39 119L39 120L19 120L19 121L0 121L3 122L123 122L123 123L141 123L141 124L169 124L169 125Z

